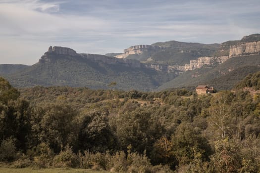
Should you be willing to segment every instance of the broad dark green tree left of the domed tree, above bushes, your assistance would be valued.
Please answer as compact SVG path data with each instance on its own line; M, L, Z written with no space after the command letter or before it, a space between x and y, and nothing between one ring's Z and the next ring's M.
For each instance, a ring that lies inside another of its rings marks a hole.
M69 105L51 104L44 107L43 117L40 121L40 142L46 142L59 152L67 144L75 146L77 139L77 112ZM36 129L37 130L37 129Z

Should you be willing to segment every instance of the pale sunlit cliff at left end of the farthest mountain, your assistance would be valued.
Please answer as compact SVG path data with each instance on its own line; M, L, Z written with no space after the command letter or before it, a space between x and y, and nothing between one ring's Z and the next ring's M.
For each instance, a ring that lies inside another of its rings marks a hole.
M131 46L127 49L124 49L124 53L116 55L115 57L117 58L126 58L129 55L141 55L144 54L145 52L149 52L149 54L156 52L160 49L159 46L156 45L134 45Z

